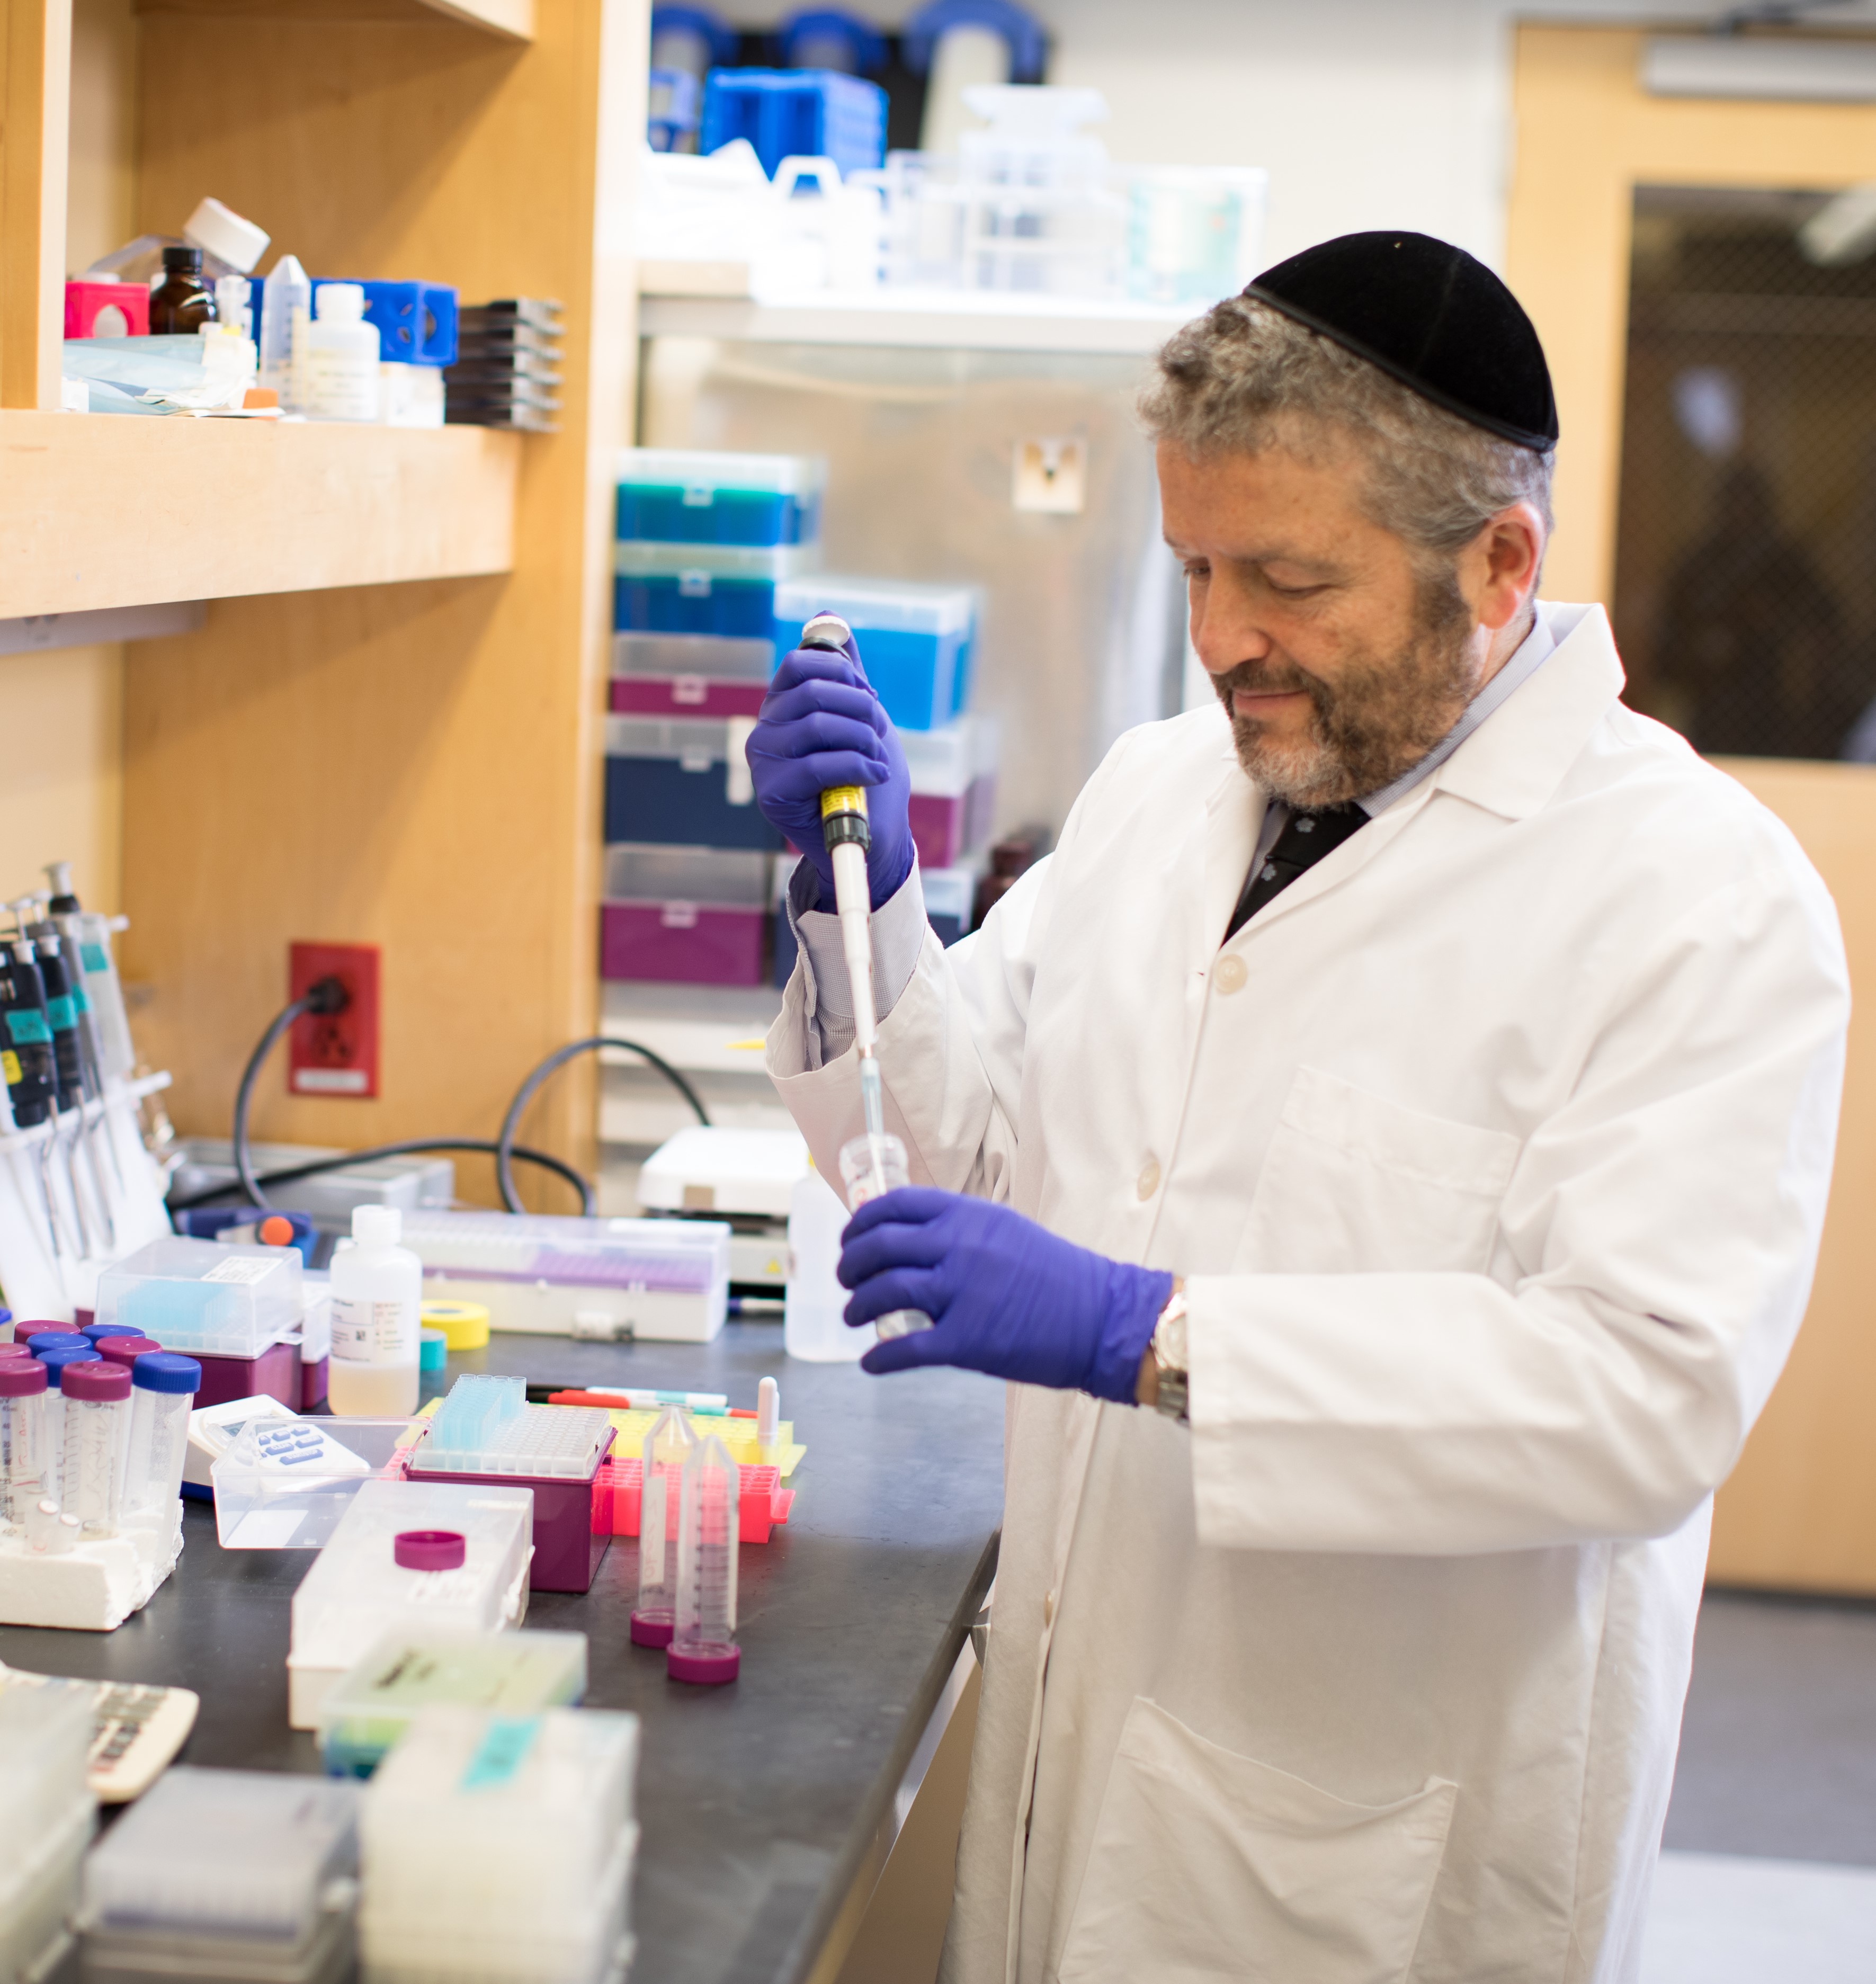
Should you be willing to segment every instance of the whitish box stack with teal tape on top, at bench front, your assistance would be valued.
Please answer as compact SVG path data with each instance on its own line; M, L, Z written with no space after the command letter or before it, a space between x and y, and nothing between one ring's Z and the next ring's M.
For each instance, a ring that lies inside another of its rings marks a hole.
M609 1984L631 1962L639 1718L422 1708L361 1794L373 1984Z

